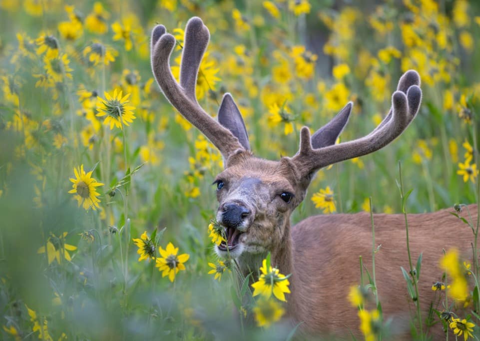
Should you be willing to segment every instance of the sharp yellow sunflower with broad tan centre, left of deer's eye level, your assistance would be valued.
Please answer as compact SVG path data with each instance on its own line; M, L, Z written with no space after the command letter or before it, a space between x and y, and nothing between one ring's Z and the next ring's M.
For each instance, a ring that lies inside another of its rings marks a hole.
M83 165L78 169L73 168L73 172L75 173L75 178L70 178L70 181L73 183L73 189L69 190L68 193L75 194L74 198L78 201L78 207L83 204L85 210L88 210L90 207L95 210L95 207L99 207L98 203L100 202L97 198L100 194L98 194L95 187L103 186L103 184L91 177L92 171L85 173Z

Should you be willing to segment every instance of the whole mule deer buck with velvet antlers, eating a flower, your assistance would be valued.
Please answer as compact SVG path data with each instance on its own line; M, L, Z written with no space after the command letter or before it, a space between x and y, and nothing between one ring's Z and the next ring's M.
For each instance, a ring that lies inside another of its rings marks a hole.
M214 183L219 202L216 219L226 230L227 242L215 247L217 254L229 253L247 275L270 252L272 264L282 274L292 274L288 315L294 323L304 322L301 328L309 334L358 333L357 312L346 297L349 287L359 283L358 256L371 264L370 215L320 215L293 227L290 215L320 168L372 153L402 134L420 107L419 74L410 70L400 78L390 112L367 136L335 144L349 119L350 102L312 136L303 127L300 149L293 157L269 161L251 152L245 124L229 93L223 96L218 121L197 102L196 77L209 37L200 18L188 21L178 83L169 65L175 38L157 25L151 36L151 64L166 98L223 156L225 169ZM416 259L423 252L419 290L425 313L434 298L432 284L442 276L438 267L442 250L470 250L472 232L447 211L412 214L408 219L412 256ZM413 305L400 271L401 266L409 269L404 216L376 214L374 221L376 243L382 244L376 261L381 274L378 293L384 315L393 318L393 326L403 334L409 331L409 305ZM440 324L433 328L434 335L443 334Z

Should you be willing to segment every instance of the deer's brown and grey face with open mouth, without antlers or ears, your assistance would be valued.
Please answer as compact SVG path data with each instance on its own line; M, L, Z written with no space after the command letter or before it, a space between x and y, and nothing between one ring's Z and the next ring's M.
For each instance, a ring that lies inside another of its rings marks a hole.
M215 178L219 207L216 220L226 242L216 246L221 257L237 258L271 251L285 236L290 214L303 200L288 160L238 157Z

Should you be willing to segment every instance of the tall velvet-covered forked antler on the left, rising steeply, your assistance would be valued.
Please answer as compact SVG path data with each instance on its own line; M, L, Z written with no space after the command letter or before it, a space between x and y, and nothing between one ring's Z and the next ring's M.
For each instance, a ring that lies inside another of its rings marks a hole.
M163 25L155 26L151 36L152 71L169 102L220 150L225 160L228 160L233 152L244 148L227 128L221 126L202 109L195 96L196 75L209 36L208 29L200 18L193 17L188 21L180 69L180 86L173 77L169 63L175 38L165 32Z

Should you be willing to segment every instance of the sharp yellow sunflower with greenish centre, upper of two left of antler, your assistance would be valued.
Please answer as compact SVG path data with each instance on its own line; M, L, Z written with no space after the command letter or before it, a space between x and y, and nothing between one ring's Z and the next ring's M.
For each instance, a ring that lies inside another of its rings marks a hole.
M105 98L98 97L98 107L97 116L105 116L103 124L110 125L110 130L113 129L113 126L123 129L123 125L128 126L129 123L133 122L135 119L135 114L133 109L135 107L128 105L130 101L128 97L130 94L126 94L122 97L122 91L117 93L117 89L113 90L113 95L110 95L105 91Z

